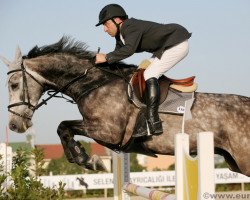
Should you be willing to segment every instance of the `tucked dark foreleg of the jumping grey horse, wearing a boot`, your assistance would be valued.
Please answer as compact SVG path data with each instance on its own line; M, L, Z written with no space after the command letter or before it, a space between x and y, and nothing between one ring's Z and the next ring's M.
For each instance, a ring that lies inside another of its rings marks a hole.
M85 135L82 120L63 121L57 129L57 133L61 139L66 158L71 163L76 163L91 170L106 171L102 160L97 155L91 158L86 154L81 143L74 140L74 135Z

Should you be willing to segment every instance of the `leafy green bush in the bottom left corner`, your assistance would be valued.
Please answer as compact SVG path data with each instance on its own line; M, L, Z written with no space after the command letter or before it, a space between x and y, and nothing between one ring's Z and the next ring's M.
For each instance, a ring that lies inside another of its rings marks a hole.
M36 175L32 176L29 173L30 155L31 152L21 148L16 151L16 156L13 157L13 166L10 174L13 184L8 187L7 191L1 188L0 199L62 200L64 198L64 184L60 183L58 190L46 188L39 179L37 179ZM37 153L35 153L35 155L37 155ZM40 158L35 157L34 159L37 160L36 172L40 173Z

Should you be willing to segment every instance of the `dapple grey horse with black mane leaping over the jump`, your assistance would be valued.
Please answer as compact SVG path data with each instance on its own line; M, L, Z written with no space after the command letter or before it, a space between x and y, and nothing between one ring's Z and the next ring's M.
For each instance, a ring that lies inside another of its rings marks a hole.
M36 46L27 56L17 49L12 62L1 57L9 68L10 129L23 133L32 126L33 113L43 104L39 99L53 89L70 96L82 115L81 120L61 122L57 130L69 162L104 169L100 158L90 158L74 135L92 138L115 151L173 155L182 116L160 114L164 133L131 143L139 109L128 100L126 91L127 79L136 68L125 63L96 67L93 58L84 43L66 37L52 45ZM231 170L250 176L250 98L197 92L191 113L192 119L185 124L191 153L196 152L196 133L212 131L215 153L224 156Z

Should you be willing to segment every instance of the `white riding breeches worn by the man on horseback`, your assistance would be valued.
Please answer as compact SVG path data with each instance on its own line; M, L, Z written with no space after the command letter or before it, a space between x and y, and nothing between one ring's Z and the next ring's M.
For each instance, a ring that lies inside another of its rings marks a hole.
M151 64L144 71L144 79L148 80L153 77L157 79L160 78L165 72L185 58L188 54L188 50L188 40L185 40L164 51L160 59L157 57L150 58L149 61Z

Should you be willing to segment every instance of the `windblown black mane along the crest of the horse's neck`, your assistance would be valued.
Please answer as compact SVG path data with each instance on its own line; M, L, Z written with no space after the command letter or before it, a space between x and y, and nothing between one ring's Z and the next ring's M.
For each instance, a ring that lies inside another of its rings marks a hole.
M68 36L63 36L57 43L51 45L35 46L29 51L26 57L36 58L56 53L70 54L82 59L93 59L94 57L93 52L87 51L87 45L84 42L75 41Z

